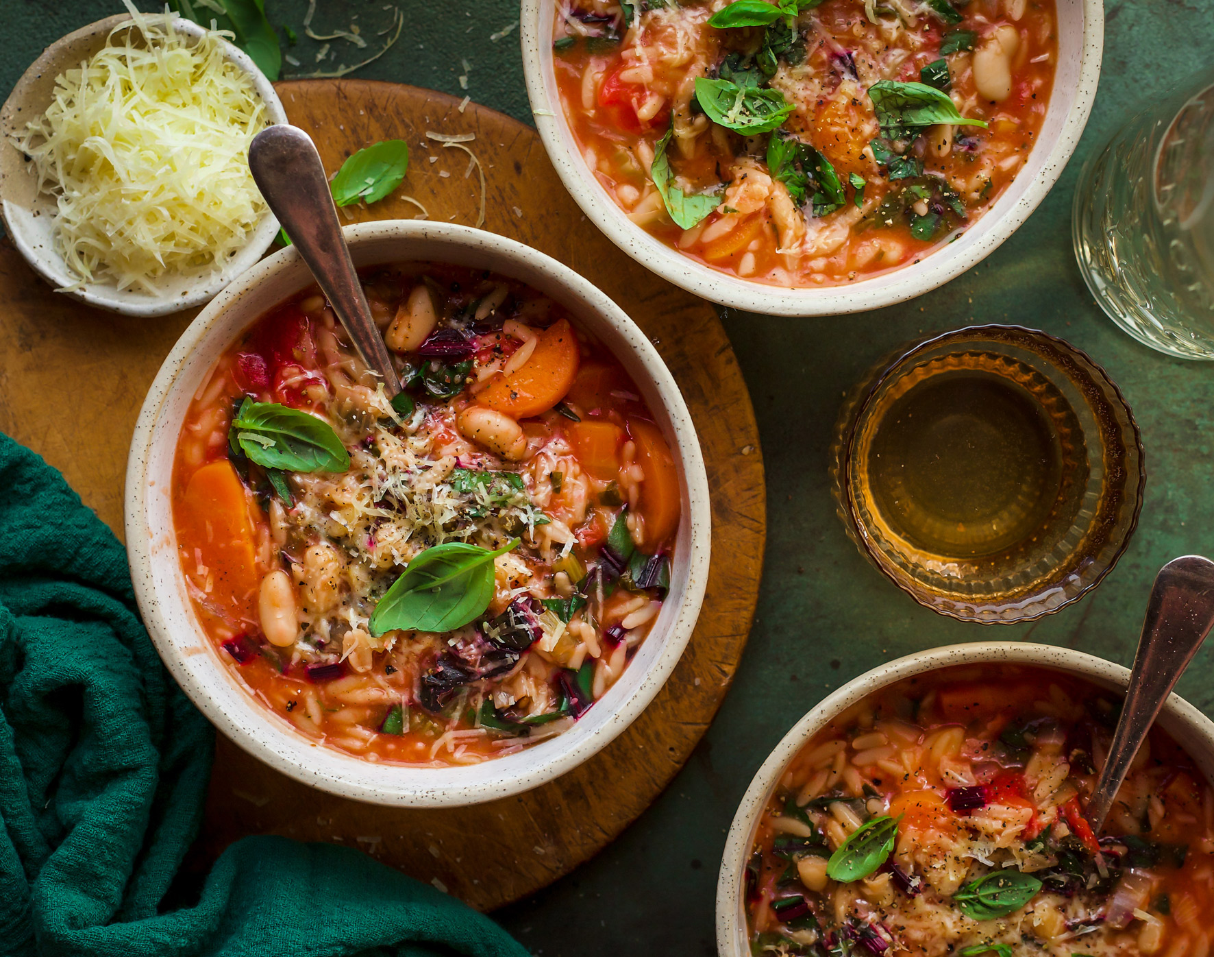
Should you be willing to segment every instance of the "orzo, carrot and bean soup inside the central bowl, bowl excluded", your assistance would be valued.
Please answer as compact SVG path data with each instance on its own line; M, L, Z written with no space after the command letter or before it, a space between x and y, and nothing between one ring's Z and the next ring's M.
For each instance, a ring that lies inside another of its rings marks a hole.
M251 693L370 760L473 763L567 730L653 627L674 457L623 367L488 272L364 288L391 402L314 289L198 390L174 514L194 608Z

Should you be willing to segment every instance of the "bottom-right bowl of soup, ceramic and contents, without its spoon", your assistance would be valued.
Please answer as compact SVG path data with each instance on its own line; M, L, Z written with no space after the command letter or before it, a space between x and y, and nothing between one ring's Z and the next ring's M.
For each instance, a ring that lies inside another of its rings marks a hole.
M1203 952L1214 724L1172 695L1102 831L1084 816L1128 679L1070 649L976 642L828 696L733 820L721 956Z

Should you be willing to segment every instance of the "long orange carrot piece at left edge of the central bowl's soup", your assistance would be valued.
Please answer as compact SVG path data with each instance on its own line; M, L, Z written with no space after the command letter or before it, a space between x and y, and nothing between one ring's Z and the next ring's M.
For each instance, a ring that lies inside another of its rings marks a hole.
M191 557L215 576L212 595L232 595L234 610L253 608L260 585L253 522L244 486L227 459L204 465L189 478L177 509L177 534Z

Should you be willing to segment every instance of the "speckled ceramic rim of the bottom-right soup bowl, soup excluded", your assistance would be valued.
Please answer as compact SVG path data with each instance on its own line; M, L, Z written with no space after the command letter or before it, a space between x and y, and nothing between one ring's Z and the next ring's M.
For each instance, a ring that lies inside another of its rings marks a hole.
M1031 645L1023 641L976 641L971 645L949 645L907 655L904 658L862 674L828 695L793 725L776 749L767 755L767 760L750 781L750 787L747 788L733 816L733 826L725 844L721 872L716 882L716 951L720 957L750 957L743 899L747 857L759 829L762 809L767 806L784 769L805 743L834 715L886 685L937 668L992 662L1053 668L1117 690L1124 690L1130 678L1129 668L1082 651L1051 645ZM1202 774L1214 781L1214 721L1179 695L1170 695L1159 714L1159 724L1197 761Z

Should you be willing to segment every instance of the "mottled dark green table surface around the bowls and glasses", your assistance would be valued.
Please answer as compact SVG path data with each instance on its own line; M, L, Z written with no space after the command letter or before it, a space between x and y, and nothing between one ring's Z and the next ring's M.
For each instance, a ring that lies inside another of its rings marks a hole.
M0 87L7 91L46 44L120 4L0 0ZM301 35L288 50L301 66L285 75L358 58L335 45L341 60L318 67L320 44L302 36L307 1L266 0L266 7L273 23ZM354 75L466 92L529 121L514 2L401 0L401 9L405 30L397 46ZM1119 333L1087 294L1070 233L1079 163L1136 103L1209 62L1214 0L1122 0L1105 10L1104 75L1078 153L1032 219L981 266L912 302L858 316L726 316L767 466L767 555L754 633L716 723L658 803L597 859L497 914L534 953L715 953L716 866L737 800L776 741L823 695L883 661L977 639L1031 638L1129 664L1158 566L1214 551L1214 366L1167 358ZM385 0L319 0L312 27L328 33L354 15L364 35L390 16ZM1077 605L1014 628L961 624L915 605L845 538L827 487L826 451L843 391L897 342L971 322L1037 327L1089 352L1134 407L1146 446L1146 504L1121 565ZM1180 691L1214 714L1214 646Z

